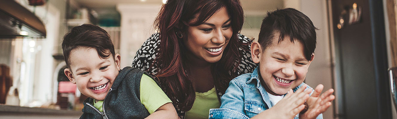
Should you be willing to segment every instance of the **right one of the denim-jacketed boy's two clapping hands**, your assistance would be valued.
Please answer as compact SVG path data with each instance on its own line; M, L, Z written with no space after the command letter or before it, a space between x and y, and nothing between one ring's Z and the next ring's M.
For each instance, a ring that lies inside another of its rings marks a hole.
M332 95L333 89L329 89L321 94L323 89L323 85L317 85L314 93L306 101L309 108L305 113L299 114L299 119L316 119L320 113L323 113L331 106L331 101L335 99L335 96Z

